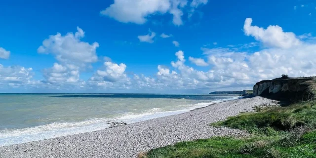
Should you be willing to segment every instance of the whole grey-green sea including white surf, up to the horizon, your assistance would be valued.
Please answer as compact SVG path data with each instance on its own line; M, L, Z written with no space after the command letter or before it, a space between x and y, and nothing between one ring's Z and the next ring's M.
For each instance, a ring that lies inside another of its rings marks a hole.
M0 146L182 114L238 95L0 93Z

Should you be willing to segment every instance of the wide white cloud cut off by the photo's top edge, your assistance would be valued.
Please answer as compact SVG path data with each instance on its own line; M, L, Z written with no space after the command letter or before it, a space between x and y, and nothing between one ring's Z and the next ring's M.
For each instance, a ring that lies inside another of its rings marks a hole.
M193 0L190 3L190 14L195 8L206 4L207 0ZM182 25L183 11L188 5L187 0L114 0L114 3L100 12L101 15L111 17L123 23L144 24L150 15L173 15L174 25Z

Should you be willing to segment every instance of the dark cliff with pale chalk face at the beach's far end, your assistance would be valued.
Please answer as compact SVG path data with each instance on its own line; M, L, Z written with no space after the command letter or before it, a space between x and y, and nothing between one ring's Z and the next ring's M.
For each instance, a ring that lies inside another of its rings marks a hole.
M316 97L316 77L262 80L253 86L252 95L278 100L310 100Z

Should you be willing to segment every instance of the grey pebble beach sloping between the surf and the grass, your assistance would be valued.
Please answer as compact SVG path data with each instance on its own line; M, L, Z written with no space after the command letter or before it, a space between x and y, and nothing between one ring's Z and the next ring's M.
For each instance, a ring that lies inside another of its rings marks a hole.
M140 152L212 136L243 136L246 132L209 124L275 104L263 97L212 104L184 114L155 118L114 128L0 147L0 158L136 158Z

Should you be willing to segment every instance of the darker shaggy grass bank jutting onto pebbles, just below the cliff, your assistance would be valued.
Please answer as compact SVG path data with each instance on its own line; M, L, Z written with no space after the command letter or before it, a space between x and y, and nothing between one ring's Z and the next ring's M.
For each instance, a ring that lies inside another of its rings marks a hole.
M227 126L253 133L260 132L260 130L267 127L278 131L287 131L297 126L314 126L315 124L316 102L303 102L287 107L263 110L258 113L245 113L236 117L230 117L225 121L212 123L211 125Z

